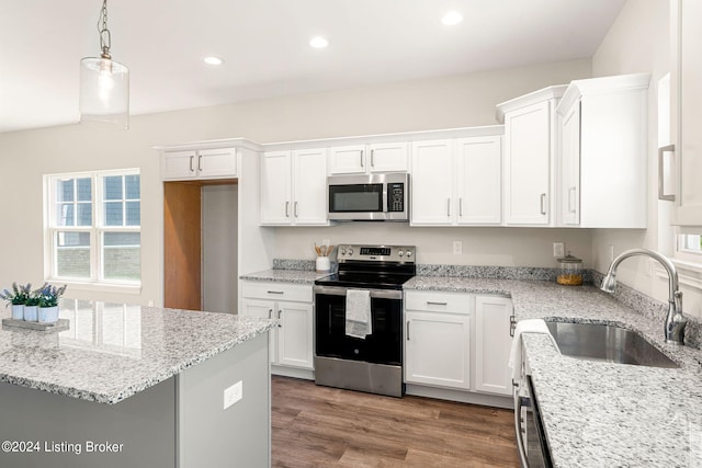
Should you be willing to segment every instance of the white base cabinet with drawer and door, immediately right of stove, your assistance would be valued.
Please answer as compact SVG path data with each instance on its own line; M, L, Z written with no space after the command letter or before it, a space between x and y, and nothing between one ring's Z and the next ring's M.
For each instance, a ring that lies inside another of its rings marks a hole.
M405 383L468 390L469 296L410 290L405 299Z

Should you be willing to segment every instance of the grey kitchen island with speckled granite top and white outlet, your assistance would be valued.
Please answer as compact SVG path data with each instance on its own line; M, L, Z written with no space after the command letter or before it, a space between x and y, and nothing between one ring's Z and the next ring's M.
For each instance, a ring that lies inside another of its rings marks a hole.
M72 305L67 331L0 330L0 466L270 464L275 321Z

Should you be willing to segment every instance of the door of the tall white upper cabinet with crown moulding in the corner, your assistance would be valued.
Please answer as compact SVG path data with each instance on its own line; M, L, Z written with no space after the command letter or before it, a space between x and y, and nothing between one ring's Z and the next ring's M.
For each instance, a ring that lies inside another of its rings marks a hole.
M505 222L547 225L551 204L551 102L505 115Z

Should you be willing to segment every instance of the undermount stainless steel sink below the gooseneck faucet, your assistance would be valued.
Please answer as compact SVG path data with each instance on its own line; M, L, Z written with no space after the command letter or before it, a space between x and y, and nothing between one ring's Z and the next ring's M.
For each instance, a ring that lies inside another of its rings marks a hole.
M561 354L588 361L679 368L638 333L621 327L546 321Z

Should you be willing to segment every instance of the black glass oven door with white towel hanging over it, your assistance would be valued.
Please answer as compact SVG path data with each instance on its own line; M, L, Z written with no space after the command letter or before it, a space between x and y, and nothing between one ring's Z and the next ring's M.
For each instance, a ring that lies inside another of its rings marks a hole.
M346 333L347 288L315 286L316 355L374 364L403 364L403 292L371 289L373 333Z

